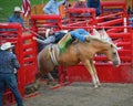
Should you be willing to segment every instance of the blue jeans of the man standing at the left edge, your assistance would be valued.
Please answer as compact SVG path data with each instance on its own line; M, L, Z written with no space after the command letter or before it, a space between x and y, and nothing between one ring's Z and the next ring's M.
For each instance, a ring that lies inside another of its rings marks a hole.
M13 93L18 106L24 106L18 91L17 77L14 74L0 74L0 106L3 106L2 96L7 86Z

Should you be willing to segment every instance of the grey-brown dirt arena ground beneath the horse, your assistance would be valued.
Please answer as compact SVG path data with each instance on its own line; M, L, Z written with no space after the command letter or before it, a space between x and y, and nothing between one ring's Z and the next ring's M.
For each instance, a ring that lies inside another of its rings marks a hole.
M72 83L55 89L41 84L40 94L25 98L25 106L133 106L133 84ZM12 105L16 106L16 105Z

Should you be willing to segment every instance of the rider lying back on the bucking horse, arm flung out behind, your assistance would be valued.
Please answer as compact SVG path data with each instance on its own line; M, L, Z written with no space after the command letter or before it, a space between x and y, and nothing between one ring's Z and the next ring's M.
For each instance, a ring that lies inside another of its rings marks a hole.
M40 43L43 43L45 45L51 44L51 43L58 43L60 50L63 52L65 51L66 46L73 42L75 39L78 39L81 42L85 42L88 41L88 38L90 33L88 31L85 31L84 29L76 29L73 31L66 31L66 30L62 30L60 32L54 32L51 29L48 29L45 31L45 40L40 40L37 38L33 38L33 40L37 40ZM65 36L65 40L62 41L62 38Z

